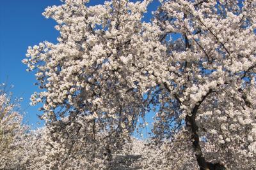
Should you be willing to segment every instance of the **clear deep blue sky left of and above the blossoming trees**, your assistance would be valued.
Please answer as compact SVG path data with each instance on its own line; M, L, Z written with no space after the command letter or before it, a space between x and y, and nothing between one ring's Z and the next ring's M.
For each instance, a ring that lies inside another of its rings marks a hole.
M133 0L136 1L136 0ZM103 3L103 0L92 0L90 4ZM22 96L22 111L26 112L25 121L33 127L39 119L38 106L29 106L29 98L38 91L35 73L27 72L21 60L25 58L28 46L41 41L56 42L58 31L54 29L54 20L46 19L42 12L47 6L61 4L60 0L5 0L0 4L0 83L14 85L14 96ZM148 21L152 10L156 10L157 1L149 8L145 20Z

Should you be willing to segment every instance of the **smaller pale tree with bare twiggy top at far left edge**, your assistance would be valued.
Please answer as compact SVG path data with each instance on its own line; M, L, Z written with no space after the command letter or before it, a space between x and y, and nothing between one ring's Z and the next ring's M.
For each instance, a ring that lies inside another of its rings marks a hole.
M6 92L6 85L0 85L0 169L19 169L24 145L20 141L27 127L22 125L19 113L20 99L13 99Z

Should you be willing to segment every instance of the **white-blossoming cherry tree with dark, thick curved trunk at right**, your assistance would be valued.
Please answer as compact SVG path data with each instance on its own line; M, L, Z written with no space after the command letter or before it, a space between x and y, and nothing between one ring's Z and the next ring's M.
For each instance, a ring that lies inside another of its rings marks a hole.
M255 5L163 1L157 11L170 76L154 131L172 138L185 125L200 169L255 167Z

